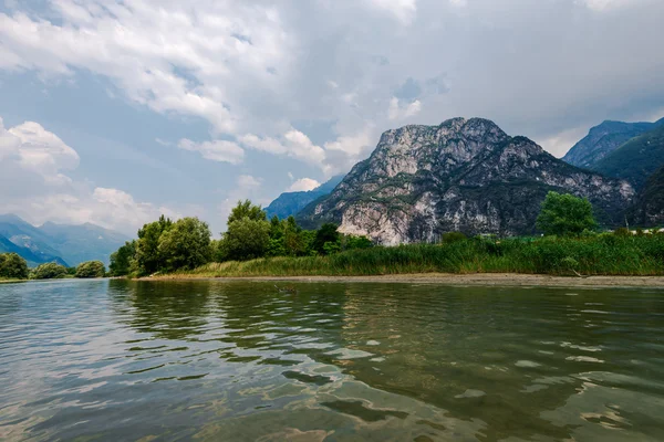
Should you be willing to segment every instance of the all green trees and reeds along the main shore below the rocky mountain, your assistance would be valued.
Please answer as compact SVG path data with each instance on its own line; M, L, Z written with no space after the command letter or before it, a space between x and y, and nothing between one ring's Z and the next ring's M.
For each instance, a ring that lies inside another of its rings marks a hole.
M625 228L600 233L588 200L551 192L537 219L540 236L448 232L435 244L382 246L340 233L335 224L308 231L293 217L268 221L259 206L246 200L231 211L220 240L210 240L207 223L197 218L174 222L162 217L145 224L137 240L111 256L110 273L160 280L518 274L592 282L596 276L664 276L664 233Z

